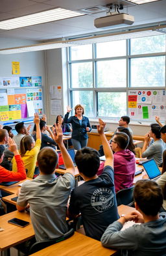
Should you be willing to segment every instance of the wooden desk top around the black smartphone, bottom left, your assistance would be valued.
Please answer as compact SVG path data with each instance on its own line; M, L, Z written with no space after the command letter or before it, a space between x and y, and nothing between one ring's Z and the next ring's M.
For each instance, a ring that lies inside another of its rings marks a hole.
M30 224L26 227L18 227L8 223L8 220L11 220L12 218L19 218L21 220L29 221ZM21 242L25 242L34 236L30 214L27 212L18 212L18 210L16 210L0 216L0 227L4 229L4 231L1 232L0 251L8 249Z

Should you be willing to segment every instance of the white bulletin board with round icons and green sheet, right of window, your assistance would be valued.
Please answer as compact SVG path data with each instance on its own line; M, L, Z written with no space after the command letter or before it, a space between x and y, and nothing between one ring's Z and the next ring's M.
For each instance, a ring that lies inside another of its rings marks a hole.
M128 115L132 120L155 120L166 118L166 96L165 90L130 90L128 91Z

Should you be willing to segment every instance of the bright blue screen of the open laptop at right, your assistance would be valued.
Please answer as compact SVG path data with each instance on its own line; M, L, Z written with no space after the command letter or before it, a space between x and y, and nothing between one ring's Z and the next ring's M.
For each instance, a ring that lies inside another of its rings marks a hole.
M160 169L153 158L142 164L150 180L157 180L161 176Z

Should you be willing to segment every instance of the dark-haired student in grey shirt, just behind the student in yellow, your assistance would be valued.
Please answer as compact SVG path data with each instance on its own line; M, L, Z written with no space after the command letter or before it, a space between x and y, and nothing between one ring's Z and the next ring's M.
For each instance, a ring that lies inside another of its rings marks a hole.
M18 132L17 135L14 135L13 139L17 144L18 150L20 149L20 141L25 135L29 135L29 130L31 128L31 124L28 127L25 126L24 122L18 122L16 124L15 129Z

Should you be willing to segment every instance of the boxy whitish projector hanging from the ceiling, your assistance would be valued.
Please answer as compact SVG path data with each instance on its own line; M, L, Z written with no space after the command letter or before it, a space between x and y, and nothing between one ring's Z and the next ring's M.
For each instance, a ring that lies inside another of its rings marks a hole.
M94 20L95 27L110 27L119 24L132 25L132 23L134 23L134 16L125 13L109 14Z

